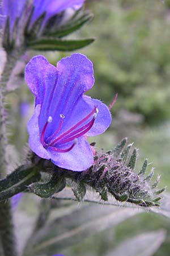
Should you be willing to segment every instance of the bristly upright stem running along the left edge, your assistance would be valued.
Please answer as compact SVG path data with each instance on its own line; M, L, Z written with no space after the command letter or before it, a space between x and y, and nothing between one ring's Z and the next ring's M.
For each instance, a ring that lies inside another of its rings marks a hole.
M11 52L7 56L7 61L0 81L0 179L5 177L8 172L4 93L6 92L6 85L10 79L12 69L20 55L22 55L21 50L18 52ZM4 256L17 256L10 200L2 201L0 203L0 238Z

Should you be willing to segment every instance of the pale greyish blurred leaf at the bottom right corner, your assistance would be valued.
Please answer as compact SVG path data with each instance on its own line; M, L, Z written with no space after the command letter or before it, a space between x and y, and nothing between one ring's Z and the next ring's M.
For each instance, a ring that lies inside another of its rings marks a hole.
M157 232L146 232L122 242L117 248L107 256L152 256L165 241L166 233L164 230Z

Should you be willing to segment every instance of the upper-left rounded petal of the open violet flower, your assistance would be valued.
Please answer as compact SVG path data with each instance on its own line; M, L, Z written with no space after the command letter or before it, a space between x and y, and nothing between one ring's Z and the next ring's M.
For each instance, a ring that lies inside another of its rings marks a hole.
M36 105L41 104L45 94L45 73L49 63L42 55L33 57L25 67L25 82L36 97Z

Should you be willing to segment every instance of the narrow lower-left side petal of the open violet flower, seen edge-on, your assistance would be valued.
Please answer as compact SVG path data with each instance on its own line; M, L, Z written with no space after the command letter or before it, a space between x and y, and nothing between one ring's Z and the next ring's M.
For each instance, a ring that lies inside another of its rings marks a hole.
M40 131L39 131L39 115L40 115L41 105L37 105L35 112L29 119L27 124L27 130L29 134L28 144L29 147L36 155L40 158L50 159L48 151L42 146L40 141Z

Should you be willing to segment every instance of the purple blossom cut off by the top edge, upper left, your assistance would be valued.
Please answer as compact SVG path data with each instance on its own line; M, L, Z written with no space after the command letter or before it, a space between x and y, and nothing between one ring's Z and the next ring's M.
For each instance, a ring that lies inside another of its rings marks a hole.
M31 23L45 11L45 20L47 20L54 14L58 14L67 8L81 6L84 1L85 0L32 0L35 9L33 11ZM12 28L15 19L20 18L22 15L26 3L26 0L2 0L0 8L0 25L4 24L6 16L9 16L10 27Z

